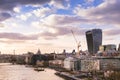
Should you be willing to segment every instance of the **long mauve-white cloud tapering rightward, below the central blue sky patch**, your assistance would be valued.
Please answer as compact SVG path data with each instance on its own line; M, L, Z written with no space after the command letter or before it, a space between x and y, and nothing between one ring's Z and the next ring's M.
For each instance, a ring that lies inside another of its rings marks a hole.
M46 25L54 26L54 25L74 24L74 23L80 24L81 22L88 22L89 20L78 17L78 16L52 14L41 21Z

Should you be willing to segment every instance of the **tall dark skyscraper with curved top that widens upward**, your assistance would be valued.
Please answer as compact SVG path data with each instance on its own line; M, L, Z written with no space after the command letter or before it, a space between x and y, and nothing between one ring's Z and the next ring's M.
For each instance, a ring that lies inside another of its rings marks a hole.
M95 54L102 45L102 30L92 29L86 32L87 46L90 54Z

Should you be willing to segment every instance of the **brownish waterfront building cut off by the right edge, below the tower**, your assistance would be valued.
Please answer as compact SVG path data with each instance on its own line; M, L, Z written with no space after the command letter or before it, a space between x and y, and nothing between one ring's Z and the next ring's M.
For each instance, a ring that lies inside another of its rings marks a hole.
M100 61L100 70L120 70L120 56L98 56L93 59Z

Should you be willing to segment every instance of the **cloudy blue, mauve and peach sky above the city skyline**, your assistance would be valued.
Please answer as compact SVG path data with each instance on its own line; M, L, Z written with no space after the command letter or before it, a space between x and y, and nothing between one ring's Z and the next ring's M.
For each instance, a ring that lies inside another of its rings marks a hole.
M85 32L102 29L102 44L119 45L120 0L0 0L2 54L72 52Z

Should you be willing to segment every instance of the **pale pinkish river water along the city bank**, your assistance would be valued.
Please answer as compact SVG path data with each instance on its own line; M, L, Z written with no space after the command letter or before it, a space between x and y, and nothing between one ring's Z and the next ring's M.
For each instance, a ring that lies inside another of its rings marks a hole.
M64 80L54 73L55 70L52 69L37 72L24 65L0 63L0 80Z

